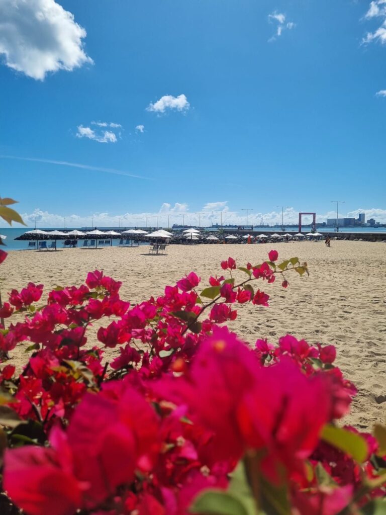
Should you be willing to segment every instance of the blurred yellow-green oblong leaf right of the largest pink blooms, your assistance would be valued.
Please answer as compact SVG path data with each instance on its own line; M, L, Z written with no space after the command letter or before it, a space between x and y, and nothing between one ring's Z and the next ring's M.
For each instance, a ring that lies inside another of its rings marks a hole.
M323 427L321 437L325 442L348 454L358 463L362 463L366 459L367 443L364 438L356 433L326 424Z

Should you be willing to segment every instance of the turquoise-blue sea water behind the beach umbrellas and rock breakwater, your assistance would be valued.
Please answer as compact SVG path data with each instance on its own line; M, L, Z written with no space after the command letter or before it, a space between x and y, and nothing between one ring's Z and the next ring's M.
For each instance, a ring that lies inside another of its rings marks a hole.
M47 230L47 231L53 231L54 228L49 228L49 229L44 229L44 228L41 228L42 230ZM74 228L76 229L76 228ZM100 230L111 230L111 229L114 229L114 228L100 228ZM226 229L226 228L224 228ZM3 234L4 236L7 236L7 238L4 240L4 243L6 244L6 246L2 247L3 250L6 250L6 251L9 251L9 250L26 250L28 248L28 241L17 241L15 240L14 238L17 238L19 236L21 236L22 234L24 234L26 231L30 231L31 228L24 228L24 229L20 229L20 228L0 228L0 234ZM63 231L64 229L63 228L58 228L58 230L60 231ZM73 230L72 228L67 228L65 229L65 231L71 231ZM82 229L80 229L82 230ZM115 228L115 230L117 230ZM150 230L150 229L148 229ZM202 230L204 230L204 228L202 228ZM211 229L211 228L205 228L206 231L209 231L209 230L212 230L212 231L216 231L215 228ZM281 228L280 227L254 227L253 228L254 231L259 231L261 233L264 233L265 231L267 232L277 232L278 234L281 231ZM294 232L296 231L297 232L297 229L294 228L294 227L286 227L285 228L285 232ZM302 229L302 232L304 234L306 234L307 232L310 231L310 228L309 227L305 227ZM318 231L321 232L321 233L329 233L331 235L334 235L335 234L335 228L334 227L319 227L318 228ZM345 232L356 232L358 234L361 234L361 233L385 233L386 234L386 227L356 227L356 228L349 228L349 227L340 227L339 228L339 233L345 233ZM108 239L108 238L106 238ZM59 240L57 241L57 246L58 248L62 248L63 246L63 241L64 240ZM80 240L81 242L81 240ZM112 240L112 244L113 246L117 246L119 243L119 239L113 239ZM82 244L79 244L79 245L82 245Z

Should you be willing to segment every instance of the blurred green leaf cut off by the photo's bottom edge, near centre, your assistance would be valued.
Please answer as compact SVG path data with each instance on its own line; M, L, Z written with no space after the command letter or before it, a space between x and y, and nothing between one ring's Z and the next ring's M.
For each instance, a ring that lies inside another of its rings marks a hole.
M241 499L222 490L205 490L196 497L189 512L204 515L251 515Z

